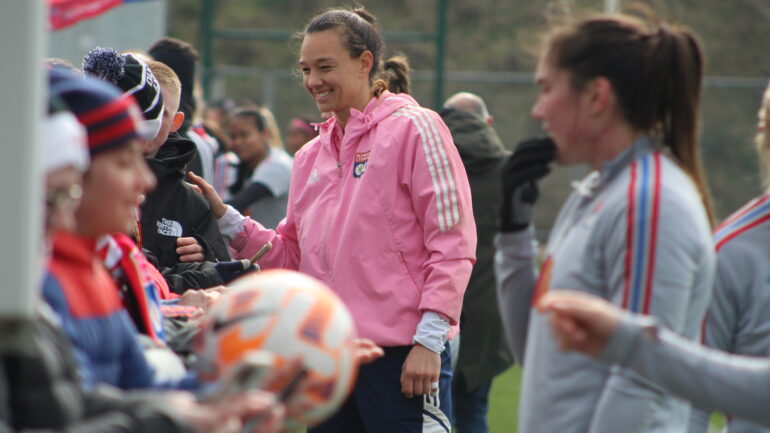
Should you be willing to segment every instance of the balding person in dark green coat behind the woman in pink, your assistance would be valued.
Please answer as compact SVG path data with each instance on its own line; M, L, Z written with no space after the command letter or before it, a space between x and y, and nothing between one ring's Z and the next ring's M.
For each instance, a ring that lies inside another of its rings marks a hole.
M500 172L510 154L492 128L484 100L468 92L451 96L441 118L463 160L476 221L476 264L463 296L457 356L452 378L455 427L459 433L487 433L492 379L513 364L500 320L493 267L500 214Z

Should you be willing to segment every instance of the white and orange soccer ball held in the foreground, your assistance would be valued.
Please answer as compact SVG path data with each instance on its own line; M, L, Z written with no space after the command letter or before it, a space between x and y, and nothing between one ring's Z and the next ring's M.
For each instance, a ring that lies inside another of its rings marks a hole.
M288 270L252 273L233 281L209 310L195 345L198 373L204 381L222 379L255 351L269 352L277 366L300 359L306 375L286 396L287 427L312 426L353 387L354 338L350 313L320 281Z

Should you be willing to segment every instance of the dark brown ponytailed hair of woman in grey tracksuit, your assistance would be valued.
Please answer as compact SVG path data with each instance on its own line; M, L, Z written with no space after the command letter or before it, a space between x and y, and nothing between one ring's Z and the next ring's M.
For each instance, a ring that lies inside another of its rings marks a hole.
M556 29L546 42L549 59L570 72L575 89L597 77L610 81L624 119L671 150L713 224L697 136L703 50L695 36L660 23L602 15Z

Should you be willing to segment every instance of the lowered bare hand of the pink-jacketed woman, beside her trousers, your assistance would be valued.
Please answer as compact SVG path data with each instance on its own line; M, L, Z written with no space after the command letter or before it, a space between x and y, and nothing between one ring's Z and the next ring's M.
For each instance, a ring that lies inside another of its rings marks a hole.
M435 391L440 374L441 356L421 344L415 344L401 367L401 392L412 398Z

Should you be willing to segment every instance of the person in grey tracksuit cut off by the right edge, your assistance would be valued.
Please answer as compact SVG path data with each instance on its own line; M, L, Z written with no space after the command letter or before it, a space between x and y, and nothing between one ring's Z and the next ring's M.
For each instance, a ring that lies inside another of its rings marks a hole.
M759 110L757 151L767 175L770 169L770 87ZM770 355L770 192L748 202L714 233L717 271L714 294L703 322L706 346L741 355ZM708 411L693 408L690 433L708 431ZM770 433L741 418L730 417L730 433Z

